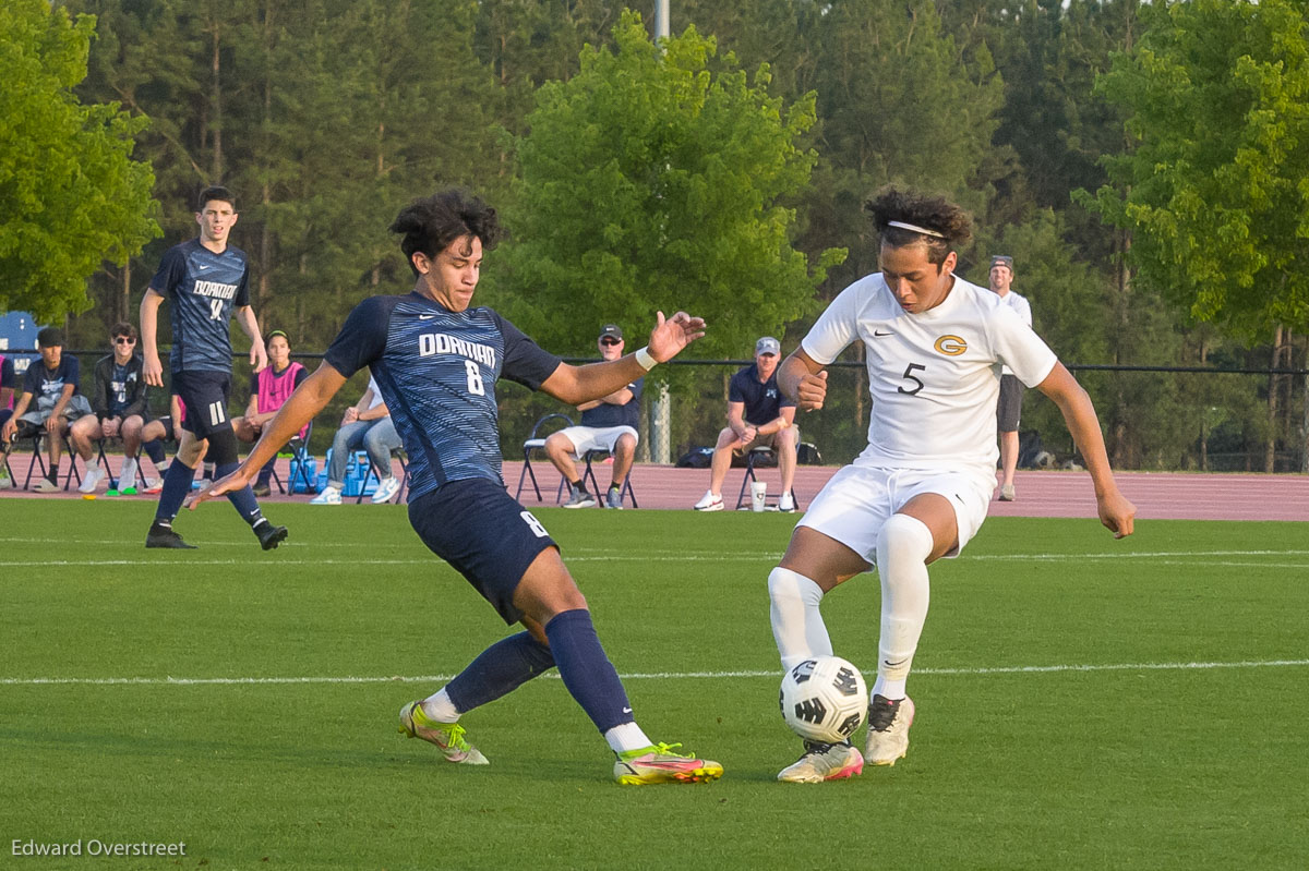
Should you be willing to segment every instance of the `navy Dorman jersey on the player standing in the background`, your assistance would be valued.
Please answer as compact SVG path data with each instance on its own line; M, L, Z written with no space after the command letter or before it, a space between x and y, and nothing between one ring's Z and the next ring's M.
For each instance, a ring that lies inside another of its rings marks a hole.
M250 305L249 276L245 251L230 245L215 254L191 239L164 254L151 289L170 305L170 371L232 373L229 322Z

